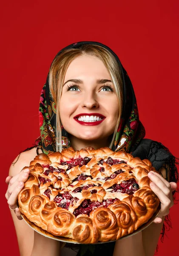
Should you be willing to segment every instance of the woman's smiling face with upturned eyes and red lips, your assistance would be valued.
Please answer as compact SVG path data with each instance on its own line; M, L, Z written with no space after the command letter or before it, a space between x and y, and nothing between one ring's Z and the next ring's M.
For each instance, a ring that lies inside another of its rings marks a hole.
M65 130L80 140L107 139L114 132L118 116L114 85L103 62L91 55L75 58L65 74L60 99Z

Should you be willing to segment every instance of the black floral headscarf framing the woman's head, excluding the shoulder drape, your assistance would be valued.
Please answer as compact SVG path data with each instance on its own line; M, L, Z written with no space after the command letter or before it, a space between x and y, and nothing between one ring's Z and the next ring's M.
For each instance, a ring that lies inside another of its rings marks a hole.
M60 55L66 49L80 48L84 44L93 44L104 47L111 52L116 58L119 69L122 73L122 85L123 85L123 106L122 116L117 129L114 145L112 146L113 151L123 150L132 152L139 142L145 137L145 129L139 120L139 113L137 109L136 97L133 90L131 80L128 77L127 72L122 67L121 62L117 55L104 44L92 41L83 41L75 44L71 44L63 48L57 53ZM56 151L56 108L57 106L52 99L49 91L48 77L40 96L40 108L39 108L39 119L40 119L40 137L36 140L35 145L40 147L45 154ZM68 148L70 142L68 134L62 126L62 146Z

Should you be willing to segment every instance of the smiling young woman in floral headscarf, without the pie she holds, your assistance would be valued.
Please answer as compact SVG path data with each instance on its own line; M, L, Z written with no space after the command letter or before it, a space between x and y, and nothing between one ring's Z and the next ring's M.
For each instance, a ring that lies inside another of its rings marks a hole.
M75 150L107 146L113 151L124 150L134 157L148 158L153 163L161 175L150 172L148 177L161 202L161 212L136 235L106 244L82 245L78 255L152 256L165 216L173 206L178 180L176 161L161 143L143 139L145 129L139 121L134 90L116 54L97 42L79 42L62 49L51 64L40 97L39 115L41 135L36 146L17 157L6 178L6 199L20 255L65 255L59 241L34 232L25 221L20 221L17 195L29 175L28 169L20 170L42 152L48 154L69 146Z

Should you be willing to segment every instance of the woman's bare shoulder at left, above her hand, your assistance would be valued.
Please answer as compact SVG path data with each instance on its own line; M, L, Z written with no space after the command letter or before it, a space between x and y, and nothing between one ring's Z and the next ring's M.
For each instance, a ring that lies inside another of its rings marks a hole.
M37 156L36 150L37 148L32 148L18 155L13 163L11 163L9 175L17 175L25 166L28 167L30 165L30 162L34 160L34 158ZM39 153L42 153L42 151L39 151Z

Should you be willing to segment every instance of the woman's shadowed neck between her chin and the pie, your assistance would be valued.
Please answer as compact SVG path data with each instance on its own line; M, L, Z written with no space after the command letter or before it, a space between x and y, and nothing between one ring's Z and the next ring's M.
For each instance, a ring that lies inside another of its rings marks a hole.
M111 136L107 138L103 138L102 140L80 140L76 137L69 136L71 147L74 148L75 151L80 150L81 148L92 147L94 149L109 147L111 143Z

